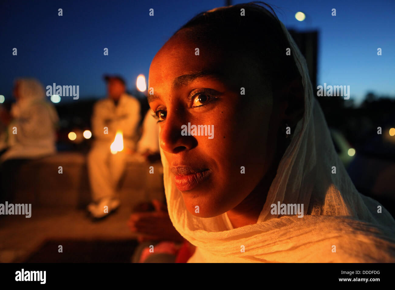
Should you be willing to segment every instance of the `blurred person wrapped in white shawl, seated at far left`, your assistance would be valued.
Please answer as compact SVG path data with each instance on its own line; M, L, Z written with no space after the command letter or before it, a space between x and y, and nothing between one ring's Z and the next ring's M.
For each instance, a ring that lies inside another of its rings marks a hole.
M3 127L8 127L7 147L1 155L1 192L8 200L13 198L14 180L23 163L56 153L55 130L59 121L55 107L45 100L45 90L38 80L17 79L13 95L16 102L10 114L6 110L1 113Z

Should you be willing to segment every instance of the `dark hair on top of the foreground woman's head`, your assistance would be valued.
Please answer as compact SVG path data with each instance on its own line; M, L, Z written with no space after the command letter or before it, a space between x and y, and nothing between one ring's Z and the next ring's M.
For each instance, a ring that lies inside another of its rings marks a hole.
M245 16L241 16L241 9L245 9ZM209 41L213 47L248 53L272 89L300 76L293 57L286 55L290 43L269 4L250 2L201 12L175 34L183 29L189 30L192 41Z

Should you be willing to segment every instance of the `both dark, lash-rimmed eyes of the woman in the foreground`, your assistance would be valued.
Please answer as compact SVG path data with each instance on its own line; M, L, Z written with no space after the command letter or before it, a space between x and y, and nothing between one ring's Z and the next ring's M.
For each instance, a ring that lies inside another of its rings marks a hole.
M216 101L218 99L216 95L219 95L219 93L212 89L196 89L190 93L188 96L188 101L189 103L192 103L192 108L199 108ZM152 117L158 120L157 123L166 120L166 116L167 111L163 109L155 110L154 114L152 114Z

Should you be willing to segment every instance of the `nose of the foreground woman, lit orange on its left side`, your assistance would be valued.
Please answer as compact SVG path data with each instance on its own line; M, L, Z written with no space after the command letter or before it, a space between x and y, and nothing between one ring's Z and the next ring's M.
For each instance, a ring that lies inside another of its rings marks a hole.
M161 127L159 134L159 143L162 150L167 153L179 153L184 150L191 150L198 145L198 141L194 136L182 136L181 126L184 125L185 121L177 116L169 116L167 113L166 121ZM185 125L187 125L186 122Z

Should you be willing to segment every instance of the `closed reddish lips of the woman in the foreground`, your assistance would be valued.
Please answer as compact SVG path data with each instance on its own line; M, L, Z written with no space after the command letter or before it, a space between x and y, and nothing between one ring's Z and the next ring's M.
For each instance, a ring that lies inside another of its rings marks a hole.
M203 183L211 174L209 169L196 169L180 166L172 167L171 172L175 175L174 183L179 191L188 191Z

